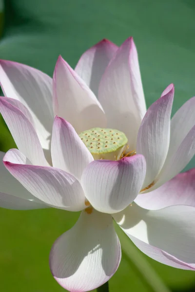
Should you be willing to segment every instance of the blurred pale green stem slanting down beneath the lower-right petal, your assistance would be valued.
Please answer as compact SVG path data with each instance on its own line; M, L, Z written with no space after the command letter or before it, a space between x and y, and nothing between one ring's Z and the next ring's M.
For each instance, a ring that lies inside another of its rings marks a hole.
M116 224L117 225L117 224ZM134 265L142 281L149 287L151 292L170 292L167 286L163 283L161 278L156 274L153 267L142 256L139 250L135 247L132 241L125 235L125 233L116 226L118 237L120 238L121 248L123 253L127 256L129 261Z

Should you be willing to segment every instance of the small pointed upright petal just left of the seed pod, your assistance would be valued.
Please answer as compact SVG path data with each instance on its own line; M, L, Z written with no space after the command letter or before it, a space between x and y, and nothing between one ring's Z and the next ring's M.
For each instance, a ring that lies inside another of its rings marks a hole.
M94 160L71 124L58 116L53 126L51 153L53 166L71 173L78 180L83 169Z

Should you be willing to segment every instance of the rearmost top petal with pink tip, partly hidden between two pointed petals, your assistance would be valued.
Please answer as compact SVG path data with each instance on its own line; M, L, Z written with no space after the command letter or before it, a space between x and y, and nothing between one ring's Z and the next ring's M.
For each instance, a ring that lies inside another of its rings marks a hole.
M78 61L75 72L78 73L96 96L98 96L101 76L117 49L117 45L104 38L87 50Z

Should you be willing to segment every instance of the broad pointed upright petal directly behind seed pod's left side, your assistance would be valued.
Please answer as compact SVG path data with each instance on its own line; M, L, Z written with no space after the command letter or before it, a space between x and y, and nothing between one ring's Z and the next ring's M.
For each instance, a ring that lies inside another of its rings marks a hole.
M76 131L106 127L105 114L94 93L59 56L54 71L54 112L70 122Z

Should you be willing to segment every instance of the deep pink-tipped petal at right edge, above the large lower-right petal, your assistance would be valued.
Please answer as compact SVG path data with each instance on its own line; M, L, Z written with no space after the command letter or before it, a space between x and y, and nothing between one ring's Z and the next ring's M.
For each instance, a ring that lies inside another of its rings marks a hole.
M135 202L149 210L173 205L195 207L195 168L177 174L175 178L152 192L138 195Z

